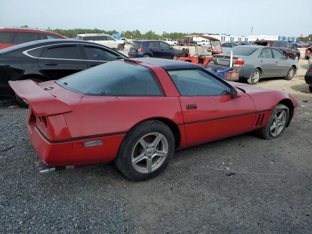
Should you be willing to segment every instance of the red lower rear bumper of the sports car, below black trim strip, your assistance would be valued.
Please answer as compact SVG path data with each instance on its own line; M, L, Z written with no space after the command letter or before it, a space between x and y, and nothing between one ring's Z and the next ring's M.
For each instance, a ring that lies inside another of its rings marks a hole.
M51 142L39 131L37 127L28 126L31 142L39 158L47 165L82 166L105 163L114 160L119 145L125 134L114 136L94 137L81 140L66 140ZM81 143L92 140L102 140L102 145L75 148Z

